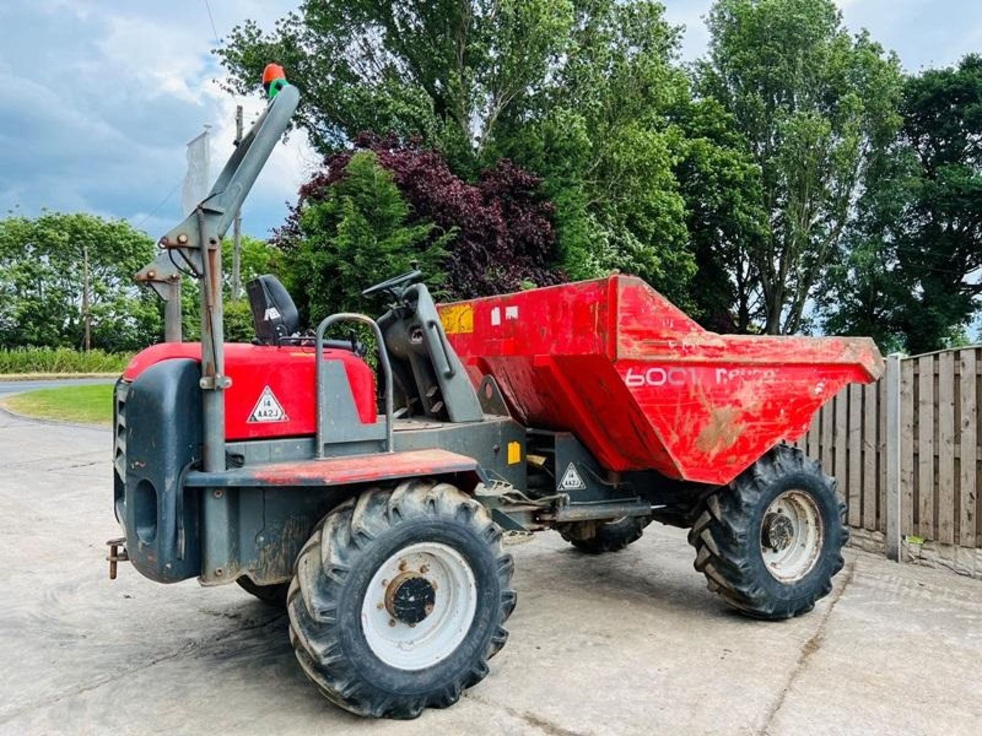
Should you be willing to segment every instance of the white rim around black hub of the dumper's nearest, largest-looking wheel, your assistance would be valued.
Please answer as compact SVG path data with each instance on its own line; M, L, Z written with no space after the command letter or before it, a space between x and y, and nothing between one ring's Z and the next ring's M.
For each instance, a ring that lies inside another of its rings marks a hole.
M400 620L389 607L408 576L426 581L433 594L432 610L414 624ZM386 664L425 669L457 650L476 609L477 585L464 556L447 545L422 542L393 554L376 570L361 603L361 629L371 651Z

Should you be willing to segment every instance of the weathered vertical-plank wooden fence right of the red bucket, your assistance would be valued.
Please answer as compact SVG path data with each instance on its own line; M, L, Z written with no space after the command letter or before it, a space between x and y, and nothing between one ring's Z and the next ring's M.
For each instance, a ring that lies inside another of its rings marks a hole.
M889 493L900 535L982 548L982 347L900 359L898 488L887 482L887 382L852 385L794 443L838 481L850 526L887 532Z

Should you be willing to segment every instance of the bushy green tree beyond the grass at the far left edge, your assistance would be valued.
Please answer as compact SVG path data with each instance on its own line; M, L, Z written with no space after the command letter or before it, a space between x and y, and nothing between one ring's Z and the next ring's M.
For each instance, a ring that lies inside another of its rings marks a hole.
M153 240L122 220L0 220L0 347L124 351L158 340L160 305L133 281L153 254Z

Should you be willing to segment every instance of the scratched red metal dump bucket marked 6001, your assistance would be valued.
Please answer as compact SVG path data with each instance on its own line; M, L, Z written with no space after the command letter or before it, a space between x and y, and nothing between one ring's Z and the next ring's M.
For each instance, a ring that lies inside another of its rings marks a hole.
M494 376L526 426L573 432L610 470L702 483L729 483L846 384L883 372L868 338L716 335L625 276L440 316L471 380Z

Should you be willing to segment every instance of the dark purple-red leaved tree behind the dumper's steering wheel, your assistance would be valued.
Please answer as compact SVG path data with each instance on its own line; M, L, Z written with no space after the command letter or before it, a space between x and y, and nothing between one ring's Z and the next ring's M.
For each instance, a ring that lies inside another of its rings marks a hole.
M557 270L553 205L541 194L541 180L508 160L481 173L476 184L454 174L443 156L419 146L364 133L355 150L371 150L392 173L417 221L435 223L456 234L445 269L450 298L507 293L566 280ZM344 176L354 151L327 158L323 168L300 187L300 198L274 240L289 249L300 237L304 203L324 197Z

